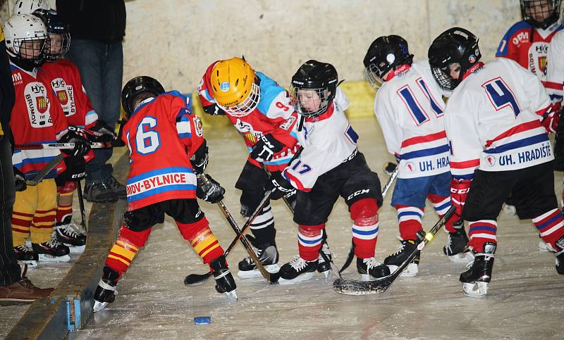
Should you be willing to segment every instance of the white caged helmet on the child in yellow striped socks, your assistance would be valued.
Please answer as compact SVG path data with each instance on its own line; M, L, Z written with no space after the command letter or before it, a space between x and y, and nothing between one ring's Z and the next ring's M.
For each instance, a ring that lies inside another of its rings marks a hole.
M31 14L12 15L4 23L4 37L8 55L24 66L36 67L44 63L49 46L49 34L43 21ZM25 54L22 44L26 44ZM31 53L31 54L30 54Z

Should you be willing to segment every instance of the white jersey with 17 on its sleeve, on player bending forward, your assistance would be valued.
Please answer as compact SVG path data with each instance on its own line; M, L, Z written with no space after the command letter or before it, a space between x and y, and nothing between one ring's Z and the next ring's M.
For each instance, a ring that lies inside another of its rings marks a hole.
M296 131L304 149L282 172L296 189L311 191L319 176L355 156L358 135L345 117L348 106L347 96L337 88L326 113L306 118L302 130Z

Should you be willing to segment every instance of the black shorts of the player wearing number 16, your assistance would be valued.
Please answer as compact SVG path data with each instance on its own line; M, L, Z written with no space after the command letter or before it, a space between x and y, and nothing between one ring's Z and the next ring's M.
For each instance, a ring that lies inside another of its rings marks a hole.
M202 220L204 212L195 199L169 199L149 206L144 206L123 214L125 227L134 232L142 232L157 223L164 222L164 214L174 220L190 224Z

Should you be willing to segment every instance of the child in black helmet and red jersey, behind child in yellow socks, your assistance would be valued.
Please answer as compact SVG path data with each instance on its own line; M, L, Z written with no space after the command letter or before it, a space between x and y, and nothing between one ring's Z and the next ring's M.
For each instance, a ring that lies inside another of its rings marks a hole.
M49 33L50 45L47 51L47 63L39 70L42 77L51 82L51 87L63 108L68 125L87 129L103 134L102 137L92 137L92 141L110 141L116 138L114 131L98 119L98 115L88 99L80 73L73 62L63 58L71 41L68 24L63 23L60 15L55 11L36 10L33 15L43 20ZM55 231L57 239L69 246L84 246L85 230L75 225L73 217L73 193L76 190L76 181L85 177L85 163L92 159L93 153L88 157L73 157L68 163L82 169L81 176L66 179L67 176L56 177L59 200L56 212Z

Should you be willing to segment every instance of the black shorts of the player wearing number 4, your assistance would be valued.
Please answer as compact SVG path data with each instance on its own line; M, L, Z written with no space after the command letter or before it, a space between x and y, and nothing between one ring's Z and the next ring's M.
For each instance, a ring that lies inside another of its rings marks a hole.
M548 162L513 171L476 170L462 218L497 220L503 202L510 196L521 220L558 208L553 166L553 162Z

